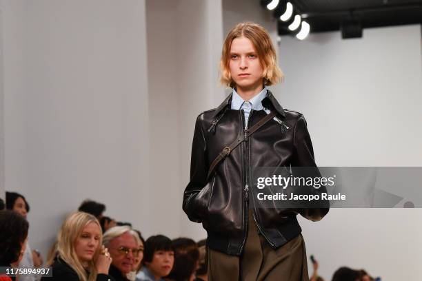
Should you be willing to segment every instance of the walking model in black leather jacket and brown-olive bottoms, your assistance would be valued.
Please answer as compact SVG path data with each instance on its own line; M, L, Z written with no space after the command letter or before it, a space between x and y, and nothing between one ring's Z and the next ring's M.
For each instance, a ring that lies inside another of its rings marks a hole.
M257 189L252 178L261 167L271 169L261 169L260 177L273 178L285 167L301 176L308 174L297 167L310 167L309 176L321 176L303 114L284 110L268 89L283 73L267 30L252 22L234 26L224 41L220 70L221 83L232 93L197 117L183 194L183 211L208 233L208 280L309 280L297 214L321 220L328 200L286 207L284 201L262 200L276 190ZM300 188L313 198L326 192Z

